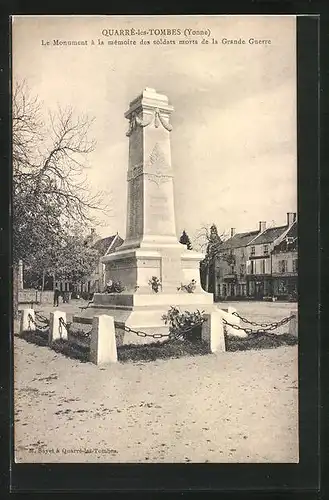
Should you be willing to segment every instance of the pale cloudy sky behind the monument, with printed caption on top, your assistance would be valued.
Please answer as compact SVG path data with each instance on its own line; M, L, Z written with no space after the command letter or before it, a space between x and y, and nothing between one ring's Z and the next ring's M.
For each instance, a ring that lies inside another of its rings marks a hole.
M131 28L182 34L104 35ZM186 28L199 34L186 36ZM108 45L115 38L136 45ZM87 45L58 46L55 39ZM198 43L179 45L179 39ZM45 110L73 106L95 117L88 182L109 193L111 207L97 228L101 236L125 236L124 112L145 87L174 106L178 236L185 229L193 239L213 222L220 232L254 230L261 220L282 225L287 212L297 211L295 16L15 16L12 54L13 81L26 80Z

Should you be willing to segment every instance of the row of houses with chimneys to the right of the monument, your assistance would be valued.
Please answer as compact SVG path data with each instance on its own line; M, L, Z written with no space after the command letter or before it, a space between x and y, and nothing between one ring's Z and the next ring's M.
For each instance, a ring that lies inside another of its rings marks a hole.
M292 264L292 261L297 262L297 249L295 253L291 250L289 258L282 255L281 259L278 257L286 248L284 243L286 237L288 241L292 241L289 237L293 238L293 236L288 236L291 234L296 234L294 242L297 246L296 213L292 212L287 214L287 223L284 226L267 228L266 222L260 221L258 231L236 234L232 229L231 237L220 246L218 251L216 299L262 299L277 295L283 297L283 294L276 293L279 287L281 287L280 290L283 289L282 280L285 280L285 283L290 280L290 288L286 285L289 290L293 289L292 283L295 283L297 287L297 271L294 275L287 274L288 271L283 275L279 272L279 269L283 269L283 264L280 268L277 262L286 260L286 269L288 269L289 261L289 273L293 273L292 266L296 267L297 264Z

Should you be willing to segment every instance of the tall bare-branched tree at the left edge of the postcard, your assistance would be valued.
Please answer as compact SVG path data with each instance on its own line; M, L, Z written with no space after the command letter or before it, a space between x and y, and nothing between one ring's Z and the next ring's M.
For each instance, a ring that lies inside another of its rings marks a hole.
M95 149L95 141L89 138L93 119L60 107L44 119L42 110L26 83L16 83L12 102L16 273L19 259L35 257L54 245L74 223L81 228L94 225L96 211L109 210L106 193L93 192L86 176L87 158ZM17 301L16 290L16 306Z

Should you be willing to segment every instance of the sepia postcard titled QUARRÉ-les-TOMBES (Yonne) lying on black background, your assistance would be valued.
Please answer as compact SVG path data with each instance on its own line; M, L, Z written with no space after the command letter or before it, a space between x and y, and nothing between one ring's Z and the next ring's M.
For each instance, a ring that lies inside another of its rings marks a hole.
M296 16L12 18L16 463L298 463Z

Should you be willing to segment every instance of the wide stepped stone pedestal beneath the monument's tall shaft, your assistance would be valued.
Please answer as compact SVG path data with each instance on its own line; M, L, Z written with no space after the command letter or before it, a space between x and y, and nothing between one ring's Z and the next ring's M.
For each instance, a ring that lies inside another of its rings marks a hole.
M216 310L213 295L200 286L200 258L202 254L186 251L179 243L174 249L118 249L104 257L103 261L108 278L121 281L125 286L124 292L95 293L92 307L75 320L91 323L94 316L108 314L115 321L118 345L154 342L150 337L125 333L123 327L147 334L167 334L169 326L165 325L162 316L171 306L178 307L182 312L199 309L211 313ZM163 283L158 292L153 291L149 284L152 276ZM196 283L193 293L178 290L182 284L188 284L193 279Z

